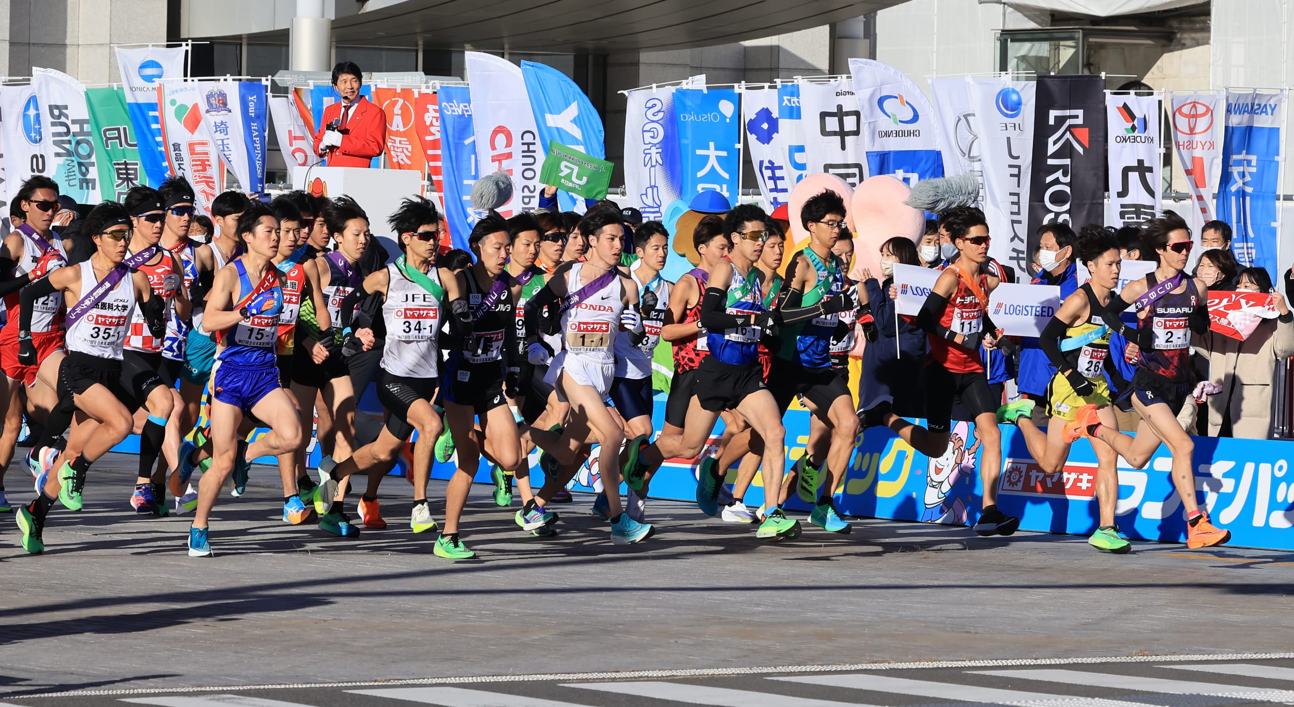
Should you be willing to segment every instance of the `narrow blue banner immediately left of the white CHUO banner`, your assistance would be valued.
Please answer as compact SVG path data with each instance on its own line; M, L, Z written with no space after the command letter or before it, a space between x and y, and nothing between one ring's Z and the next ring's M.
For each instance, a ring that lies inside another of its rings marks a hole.
M476 182L476 129L472 96L465 85L440 87L440 159L445 185L445 220L455 248L471 252L467 237L476 224L472 184Z

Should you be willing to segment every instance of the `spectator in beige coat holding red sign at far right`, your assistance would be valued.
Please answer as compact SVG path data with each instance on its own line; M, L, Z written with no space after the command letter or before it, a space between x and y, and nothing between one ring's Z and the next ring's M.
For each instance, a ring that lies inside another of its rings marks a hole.
M1281 314L1259 322L1244 341L1215 331L1194 336L1196 350L1210 359L1210 380L1222 385L1222 393L1209 398L1209 436L1268 439L1276 363L1294 355L1294 314L1263 268L1241 270L1236 290L1271 293Z

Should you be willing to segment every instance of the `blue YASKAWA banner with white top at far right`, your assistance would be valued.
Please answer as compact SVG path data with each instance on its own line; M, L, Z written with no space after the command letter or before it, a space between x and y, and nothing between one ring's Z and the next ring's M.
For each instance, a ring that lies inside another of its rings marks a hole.
M1267 269L1276 261L1276 189L1280 177L1285 92L1228 90L1227 127L1218 184L1218 218L1231 224L1231 249L1241 265Z

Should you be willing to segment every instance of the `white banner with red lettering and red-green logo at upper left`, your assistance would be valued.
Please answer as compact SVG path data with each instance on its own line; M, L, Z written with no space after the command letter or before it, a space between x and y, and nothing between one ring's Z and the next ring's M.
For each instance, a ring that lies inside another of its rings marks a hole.
M210 216L211 202L225 189L225 176L220 150L202 116L204 97L199 84L166 81L158 94L167 164L193 187L198 211Z

